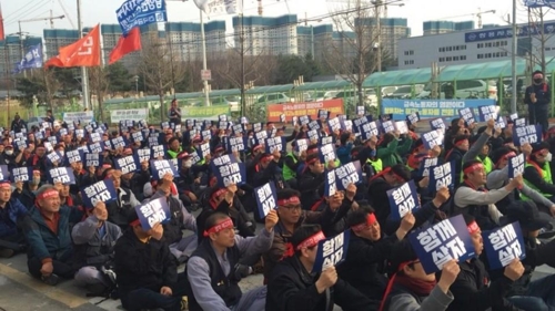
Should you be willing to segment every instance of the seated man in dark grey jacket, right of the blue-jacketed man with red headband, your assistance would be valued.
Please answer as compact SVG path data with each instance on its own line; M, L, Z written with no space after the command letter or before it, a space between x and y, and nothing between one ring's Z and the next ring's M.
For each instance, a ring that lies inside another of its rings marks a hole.
M71 230L74 263L79 269L75 281L93 294L109 293L114 283L103 271L113 265L113 246L121 237L121 229L107 221L108 211L103 201L87 209L87 215L88 218L75 224Z

